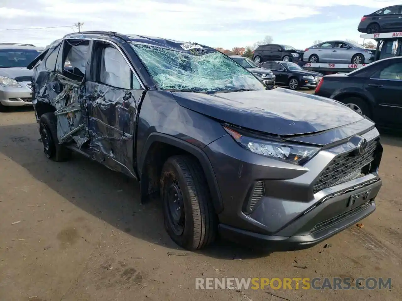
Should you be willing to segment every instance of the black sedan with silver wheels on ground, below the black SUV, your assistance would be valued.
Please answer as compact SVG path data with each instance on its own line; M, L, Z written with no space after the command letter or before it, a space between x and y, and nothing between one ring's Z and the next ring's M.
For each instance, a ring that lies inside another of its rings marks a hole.
M264 62L260 66L270 69L275 74L277 85L286 85L292 90L301 87L315 88L324 76L322 73L305 70L291 62Z

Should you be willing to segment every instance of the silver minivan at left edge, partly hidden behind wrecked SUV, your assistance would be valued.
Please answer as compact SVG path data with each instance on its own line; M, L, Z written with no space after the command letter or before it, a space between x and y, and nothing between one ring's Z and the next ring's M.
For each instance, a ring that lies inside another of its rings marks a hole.
M32 106L28 64L43 48L31 44L0 44L0 111L9 106Z

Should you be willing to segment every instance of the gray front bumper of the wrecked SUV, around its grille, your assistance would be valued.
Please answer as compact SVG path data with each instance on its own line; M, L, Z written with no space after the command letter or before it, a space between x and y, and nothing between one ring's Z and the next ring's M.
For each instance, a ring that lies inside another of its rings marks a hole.
M373 142L379 134L374 128L362 136ZM351 143L321 150L304 166L254 154L230 136L206 146L224 203L219 214L221 236L248 246L296 250L326 240L371 214L382 185L377 175L382 154L379 142L375 144L376 159L371 163L374 170L313 192L322 171L334 158L355 149ZM245 205L256 183L263 183L264 192L252 212L247 213Z

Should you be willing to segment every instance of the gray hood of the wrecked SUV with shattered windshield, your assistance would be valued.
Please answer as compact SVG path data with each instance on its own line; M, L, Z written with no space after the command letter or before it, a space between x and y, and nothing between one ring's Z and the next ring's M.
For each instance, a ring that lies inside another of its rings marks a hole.
M349 107L283 88L203 94L172 92L180 106L233 125L280 136L321 132L364 119Z

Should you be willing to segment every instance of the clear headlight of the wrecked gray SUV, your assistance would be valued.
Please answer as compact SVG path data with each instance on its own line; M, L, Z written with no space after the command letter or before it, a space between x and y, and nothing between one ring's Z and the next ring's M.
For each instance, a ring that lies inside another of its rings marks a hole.
M287 163L300 165L308 161L320 150L319 147L314 146L297 145L243 136L226 125L224 125L224 129L240 146L247 150Z

